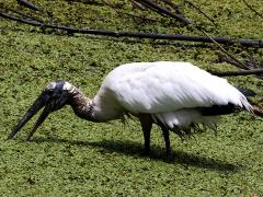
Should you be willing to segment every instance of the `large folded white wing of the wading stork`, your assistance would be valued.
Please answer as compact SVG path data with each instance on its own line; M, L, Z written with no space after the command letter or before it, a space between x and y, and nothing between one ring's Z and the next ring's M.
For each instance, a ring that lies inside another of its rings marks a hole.
M114 69L101 89L108 89L133 113L173 112L181 108L243 106L247 99L227 80L187 62L129 63Z

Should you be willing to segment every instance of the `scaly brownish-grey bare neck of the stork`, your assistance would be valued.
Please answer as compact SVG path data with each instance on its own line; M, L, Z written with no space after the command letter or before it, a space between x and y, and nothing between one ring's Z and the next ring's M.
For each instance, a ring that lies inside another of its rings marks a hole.
M93 117L92 101L77 88L70 95L70 106L72 107L75 114L80 118L90 121L96 121L95 118Z

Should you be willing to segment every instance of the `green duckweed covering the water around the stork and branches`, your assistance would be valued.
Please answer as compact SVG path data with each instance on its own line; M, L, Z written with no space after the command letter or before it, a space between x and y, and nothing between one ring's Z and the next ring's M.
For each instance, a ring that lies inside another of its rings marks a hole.
M175 20L130 1L33 1L53 13L53 22L75 27L202 35ZM182 13L205 27L210 36L262 39L263 19L242 0L192 1L217 23L185 4ZM248 1L259 13L262 2ZM7 0L1 7L44 15ZM3 10L1 9L1 12ZM140 20L139 18L149 20ZM152 20L150 20L152 19ZM239 59L262 60L261 48L226 46ZM202 132L182 141L171 135L174 161L165 161L160 130L152 130L149 158L137 119L92 124L75 116L70 107L53 113L33 140L24 137L34 117L15 137L12 127L42 92L57 79L70 81L92 97L105 74L125 62L182 60L203 69L235 70L218 61L220 50L211 44L106 36L68 35L41 31L0 18L0 194L2 196L262 196L263 121L248 113L225 116L218 132ZM228 78L263 96L259 78Z

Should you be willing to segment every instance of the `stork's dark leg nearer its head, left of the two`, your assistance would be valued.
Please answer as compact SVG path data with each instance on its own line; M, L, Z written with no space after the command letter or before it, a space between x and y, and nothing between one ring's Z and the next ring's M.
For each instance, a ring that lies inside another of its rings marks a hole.
M152 127L152 119L149 115L140 114L139 115L140 125L144 131L144 138L145 138L145 150L144 155L149 155L150 152L150 131Z

